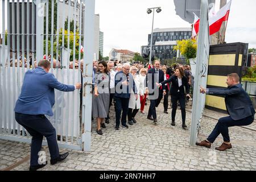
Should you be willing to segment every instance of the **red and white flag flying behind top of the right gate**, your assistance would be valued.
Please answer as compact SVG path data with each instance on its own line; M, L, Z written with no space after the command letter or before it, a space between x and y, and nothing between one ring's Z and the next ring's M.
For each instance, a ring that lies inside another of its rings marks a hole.
M215 7L213 6L212 9L209 11L209 31L210 35L215 34L216 32L220 31L222 22L225 22L229 18L229 10L231 6L232 0L230 0L225 6L223 6L217 13L215 12ZM193 30L192 30L192 38L199 32L199 23L200 19L195 15L195 19L193 22Z

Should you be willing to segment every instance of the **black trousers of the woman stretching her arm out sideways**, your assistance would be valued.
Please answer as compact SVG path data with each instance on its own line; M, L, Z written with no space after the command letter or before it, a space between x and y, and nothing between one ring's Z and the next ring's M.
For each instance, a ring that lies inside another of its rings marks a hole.
M181 118L182 124L185 124L186 119L186 111L185 111L185 95L184 94L177 94L171 96L172 101L172 121L175 121L175 115L177 110L177 101L179 101L181 107Z

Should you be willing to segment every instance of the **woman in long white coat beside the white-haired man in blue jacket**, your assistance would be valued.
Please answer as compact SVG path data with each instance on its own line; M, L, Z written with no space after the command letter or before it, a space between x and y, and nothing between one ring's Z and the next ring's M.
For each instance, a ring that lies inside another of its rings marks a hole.
M137 88L137 93L140 94L140 96L144 96L143 92L143 86L144 82L141 82L141 79L139 79L139 75L136 75L137 68L131 67L130 70L131 75L133 75L133 79L135 81L135 85ZM130 100L129 100L129 110L128 110L128 123L129 125L133 125L133 123L136 123L135 115L138 113L139 109L141 108L141 101L139 99L136 99L134 92L131 92Z

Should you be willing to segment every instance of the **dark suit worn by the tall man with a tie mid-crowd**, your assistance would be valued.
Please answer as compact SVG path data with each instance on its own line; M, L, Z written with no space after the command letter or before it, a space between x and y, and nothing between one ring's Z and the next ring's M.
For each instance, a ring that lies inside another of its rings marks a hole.
M155 68L151 68L147 71L146 86L148 88L148 95L150 99L150 108L148 109L147 117L152 117L153 119L156 119L155 107L158 107L160 104L160 101L163 98L163 90L166 89L165 85L163 85L162 89L158 89L158 86L156 86L156 82L159 83L162 81L164 81L164 72L162 70L158 69L158 74L156 74Z

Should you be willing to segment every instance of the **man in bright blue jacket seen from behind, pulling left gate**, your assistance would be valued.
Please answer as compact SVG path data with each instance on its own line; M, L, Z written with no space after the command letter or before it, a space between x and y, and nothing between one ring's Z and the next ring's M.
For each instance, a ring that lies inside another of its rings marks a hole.
M72 92L80 89L81 84L61 84L52 73L48 73L50 68L51 63L48 60L40 60L38 67L25 73L20 96L14 108L16 121L32 136L30 171L36 171L47 164L47 162L44 164L38 162L43 136L47 139L51 164L56 164L68 156L68 152L59 154L55 128L45 114L53 116L54 89Z

